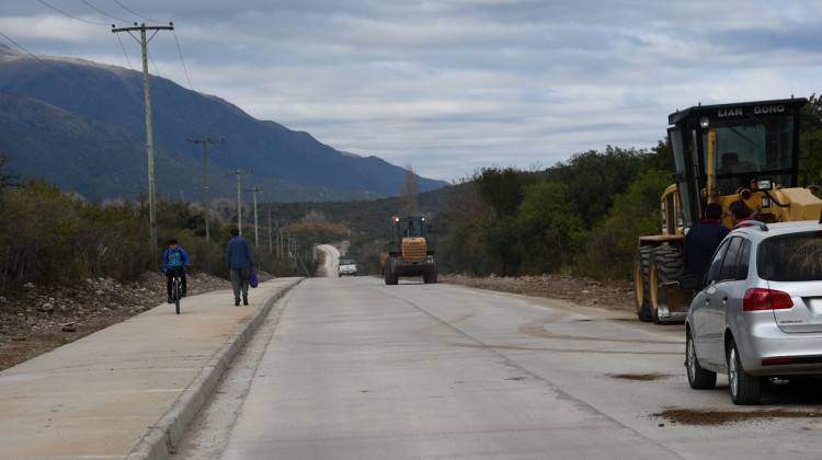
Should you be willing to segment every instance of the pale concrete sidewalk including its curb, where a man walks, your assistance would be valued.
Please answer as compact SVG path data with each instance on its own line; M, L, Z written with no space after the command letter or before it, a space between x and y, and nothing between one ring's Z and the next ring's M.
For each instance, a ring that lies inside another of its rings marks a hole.
M302 278L161 304L0 371L0 458L168 457L276 299Z

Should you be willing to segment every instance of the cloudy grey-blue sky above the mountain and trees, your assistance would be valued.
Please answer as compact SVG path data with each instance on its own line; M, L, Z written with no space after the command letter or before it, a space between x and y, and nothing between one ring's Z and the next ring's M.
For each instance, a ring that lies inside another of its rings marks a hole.
M822 88L822 2L3 0L0 44L141 70L458 182L650 149L697 104ZM214 133L210 138L230 138Z

